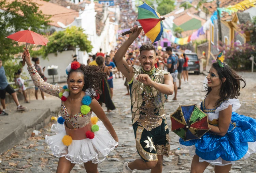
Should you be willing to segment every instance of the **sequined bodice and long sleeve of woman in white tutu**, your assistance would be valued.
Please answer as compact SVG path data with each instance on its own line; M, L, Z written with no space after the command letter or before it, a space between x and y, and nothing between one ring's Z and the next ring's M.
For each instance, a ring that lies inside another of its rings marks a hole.
M41 76L35 69L34 65L28 67L28 72L36 87L38 87L40 90L46 92L49 95L59 97L59 92L63 90L61 86L51 85L47 82L44 82L44 80L41 78ZM86 126L90 122L91 113L92 112L90 111L88 114L84 115L81 112L79 112L74 116L70 116L64 103L61 102L60 115L65 120L67 120L73 126L74 129Z

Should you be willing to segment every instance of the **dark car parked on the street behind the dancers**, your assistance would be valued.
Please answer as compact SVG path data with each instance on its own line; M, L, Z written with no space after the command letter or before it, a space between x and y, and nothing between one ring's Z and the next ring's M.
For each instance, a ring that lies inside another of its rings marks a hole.
M189 73L200 74L200 63L196 53L186 53L188 60Z

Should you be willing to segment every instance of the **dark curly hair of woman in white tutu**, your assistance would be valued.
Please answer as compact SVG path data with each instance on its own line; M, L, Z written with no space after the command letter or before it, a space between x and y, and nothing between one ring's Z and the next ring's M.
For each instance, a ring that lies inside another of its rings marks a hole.
M80 68L76 70L70 70L70 72L68 73L68 78L73 72L80 72L84 74L84 87L82 89L83 91L88 89L90 93L93 93L94 89L99 95L101 95L101 81L106 77L106 75L101 71L98 66L86 66L85 64L81 64Z

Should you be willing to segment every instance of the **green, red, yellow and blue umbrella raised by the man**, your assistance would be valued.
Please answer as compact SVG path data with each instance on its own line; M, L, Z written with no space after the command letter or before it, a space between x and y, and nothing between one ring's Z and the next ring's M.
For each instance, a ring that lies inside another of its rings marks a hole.
M163 33L163 24L160 14L145 2L138 6L138 21L141 24L145 35L154 43L160 40Z

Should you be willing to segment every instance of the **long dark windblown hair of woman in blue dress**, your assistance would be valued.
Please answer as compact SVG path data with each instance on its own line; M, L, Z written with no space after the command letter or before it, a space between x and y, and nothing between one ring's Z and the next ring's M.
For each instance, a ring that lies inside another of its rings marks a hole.
M226 81L224 83L222 83L221 85L221 89L219 91L219 96L221 97L216 105L218 105L219 103L227 100L227 99L234 99L238 96L240 96L240 82L244 82L244 86L242 88L245 87L245 79L241 76L239 76L236 71L234 71L233 69L231 69L228 64L223 63L224 67L219 66L218 62L215 62L212 64L212 67L217 71L219 79L222 81L222 78L225 77ZM211 87L206 87L205 91L207 91L206 95L204 98L207 97L207 95L211 92L212 88ZM215 106L216 106L215 105Z

